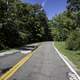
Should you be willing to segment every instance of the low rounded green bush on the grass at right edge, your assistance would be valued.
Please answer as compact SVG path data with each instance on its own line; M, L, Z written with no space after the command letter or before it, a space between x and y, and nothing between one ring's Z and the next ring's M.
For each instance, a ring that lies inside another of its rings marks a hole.
M73 31L66 40L66 47L69 50L80 50L80 31Z

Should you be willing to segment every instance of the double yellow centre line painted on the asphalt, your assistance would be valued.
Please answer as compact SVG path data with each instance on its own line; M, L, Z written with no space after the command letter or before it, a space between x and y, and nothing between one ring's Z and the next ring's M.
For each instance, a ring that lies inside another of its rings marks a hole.
M8 80L26 61L28 61L32 56L32 53L27 54L21 61L19 61L15 66L13 66L8 72L0 77L0 80Z

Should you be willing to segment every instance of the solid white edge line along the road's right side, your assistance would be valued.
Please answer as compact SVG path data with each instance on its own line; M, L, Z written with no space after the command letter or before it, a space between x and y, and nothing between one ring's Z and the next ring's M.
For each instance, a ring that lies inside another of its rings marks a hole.
M54 42L53 42L54 45ZM77 74L77 72L72 68L72 66L64 59L64 57L61 55L59 50L54 46L54 49L57 51L58 55L61 57L61 59L65 62L65 64L69 67L69 69L77 76L77 78L80 80L80 76Z

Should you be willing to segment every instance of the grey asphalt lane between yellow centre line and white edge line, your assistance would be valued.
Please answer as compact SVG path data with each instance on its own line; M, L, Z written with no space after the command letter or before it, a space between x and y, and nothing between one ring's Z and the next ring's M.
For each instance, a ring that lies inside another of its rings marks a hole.
M33 56L9 80L67 80L70 69L52 47L43 42Z

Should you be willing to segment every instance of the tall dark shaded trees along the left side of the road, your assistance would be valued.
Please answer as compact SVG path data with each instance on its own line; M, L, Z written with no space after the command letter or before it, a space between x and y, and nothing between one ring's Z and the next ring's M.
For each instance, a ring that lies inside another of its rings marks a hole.
M41 5L0 0L0 49L45 40L51 40L51 34Z

